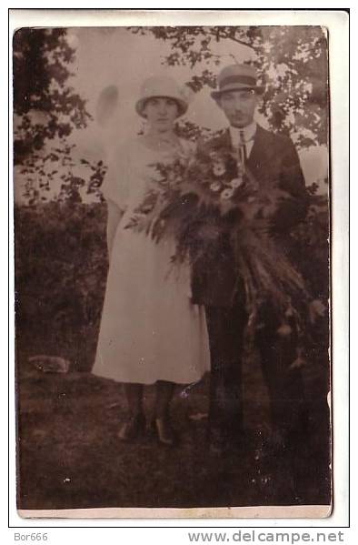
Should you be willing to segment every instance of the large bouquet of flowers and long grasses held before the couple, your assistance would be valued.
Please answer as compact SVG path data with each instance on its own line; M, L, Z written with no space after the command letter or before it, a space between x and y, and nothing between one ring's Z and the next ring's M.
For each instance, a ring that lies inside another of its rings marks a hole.
M270 300L283 326L294 318L302 328L310 296L270 229L275 211L290 196L278 184L259 184L240 157L227 149L199 148L181 151L170 164L156 164L157 176L128 227L157 242L174 237L174 264L192 266L205 263L226 237L244 284L249 324L257 325L260 306Z

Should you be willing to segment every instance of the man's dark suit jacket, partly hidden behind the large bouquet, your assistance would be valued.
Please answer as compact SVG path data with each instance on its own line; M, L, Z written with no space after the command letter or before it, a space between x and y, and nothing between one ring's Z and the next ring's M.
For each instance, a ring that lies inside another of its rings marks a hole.
M231 149L229 130L222 136L208 141L200 153L209 154L214 150ZM290 198L271 217L273 236L286 256L294 258L288 235L292 227L305 216L307 194L303 172L297 151L287 136L276 135L257 126L254 146L247 159L247 167L259 184L279 187ZM237 291L244 291L240 278L234 269L234 254L228 239L223 238L214 254L206 263L198 263L193 270L193 302L215 307L230 307Z

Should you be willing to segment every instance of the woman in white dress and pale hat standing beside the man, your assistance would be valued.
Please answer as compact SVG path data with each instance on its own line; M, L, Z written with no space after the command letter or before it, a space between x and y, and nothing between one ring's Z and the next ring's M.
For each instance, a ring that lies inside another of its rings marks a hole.
M104 179L110 266L93 372L124 383L129 416L119 431L123 440L144 433L144 385L155 383L153 429L161 443L173 445L174 385L197 382L210 366L204 308L191 303L189 266L171 269L174 240L155 243L128 228L153 187L154 164L189 145L174 132L187 106L172 78L146 80L135 109L148 131L115 150Z

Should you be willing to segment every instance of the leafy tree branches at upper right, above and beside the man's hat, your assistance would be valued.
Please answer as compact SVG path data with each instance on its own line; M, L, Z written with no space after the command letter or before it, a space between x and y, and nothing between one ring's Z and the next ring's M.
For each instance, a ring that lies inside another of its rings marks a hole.
M168 66L189 66L197 92L215 86L215 45L227 45L226 64L237 62L237 45L252 50L265 87L260 112L273 130L290 133L298 146L327 144L327 38L320 26L153 26L132 27L171 45ZM232 57L231 61L230 58Z

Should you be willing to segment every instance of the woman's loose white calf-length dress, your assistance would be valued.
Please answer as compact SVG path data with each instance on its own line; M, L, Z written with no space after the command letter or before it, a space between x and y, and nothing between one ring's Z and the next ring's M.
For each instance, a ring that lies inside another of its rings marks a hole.
M93 372L120 382L189 384L209 369L204 308L191 304L190 271L171 266L174 241L125 228L153 184L157 162L140 137L114 153L103 192L124 215L116 229Z

